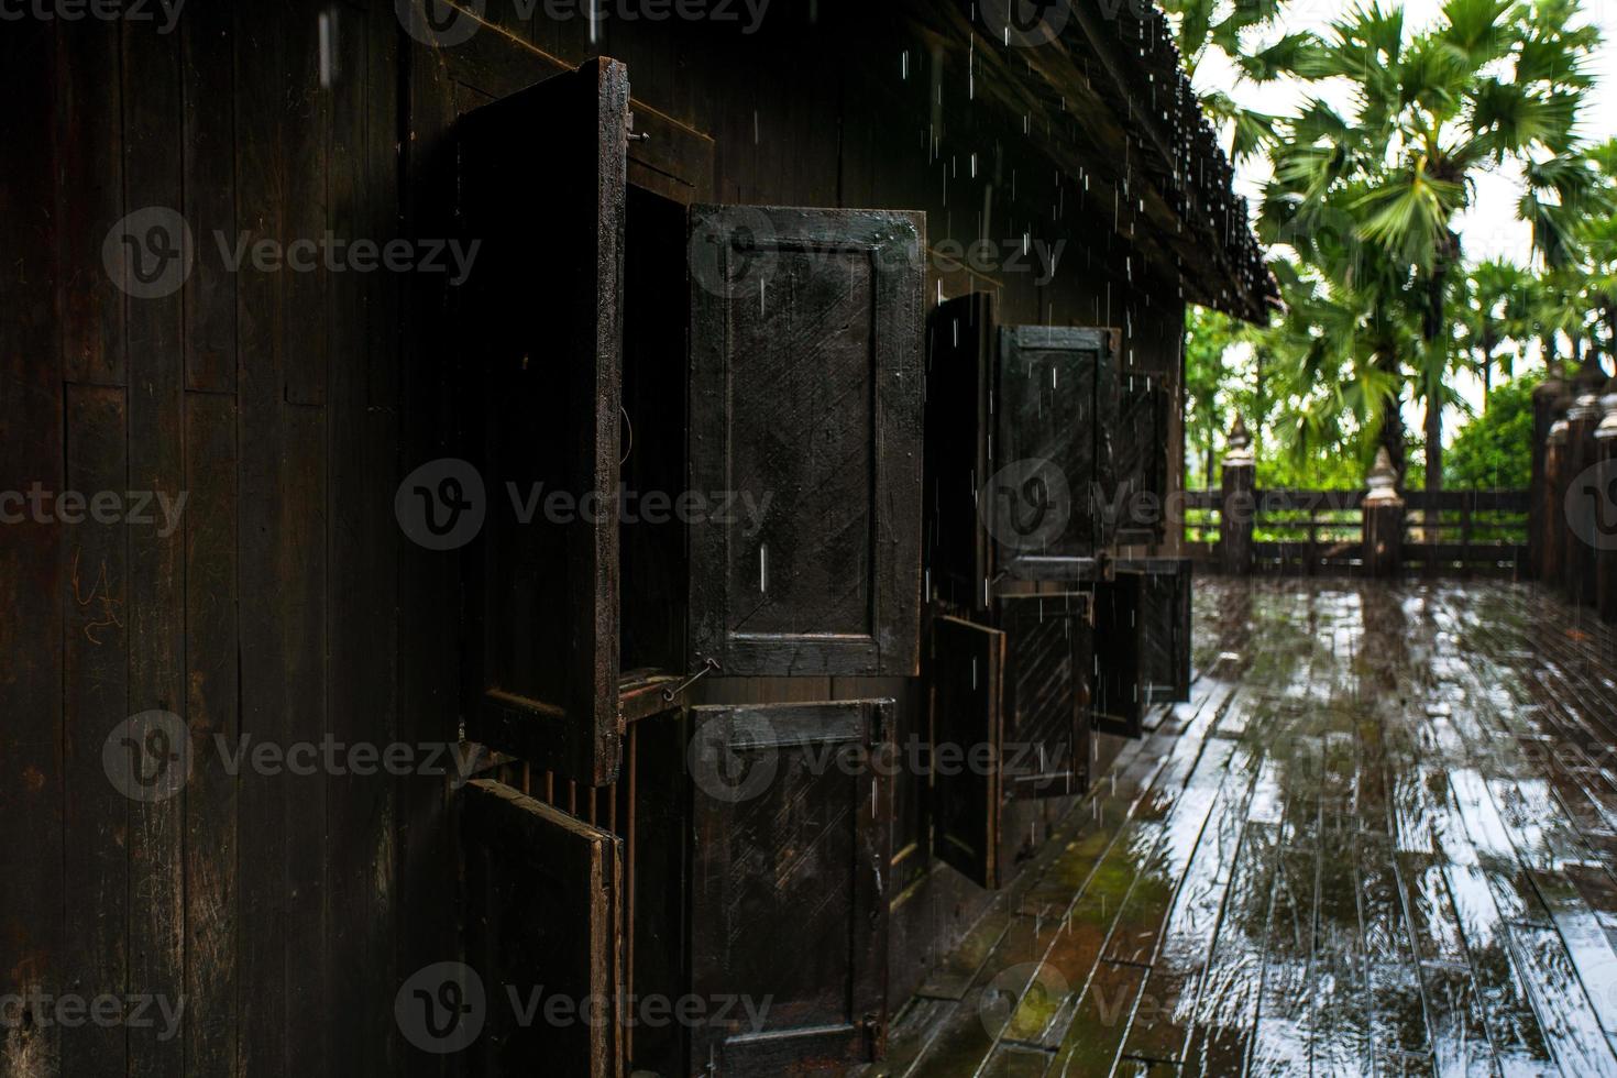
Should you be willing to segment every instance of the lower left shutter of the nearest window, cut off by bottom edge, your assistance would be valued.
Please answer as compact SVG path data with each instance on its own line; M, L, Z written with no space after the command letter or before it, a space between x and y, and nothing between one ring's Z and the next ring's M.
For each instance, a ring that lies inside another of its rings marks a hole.
M487 779L464 787L461 821L466 957L485 997L474 1073L623 1075L621 842ZM524 1020L508 984L521 1007L542 989L540 1010ZM556 997L582 1017L547 1021Z

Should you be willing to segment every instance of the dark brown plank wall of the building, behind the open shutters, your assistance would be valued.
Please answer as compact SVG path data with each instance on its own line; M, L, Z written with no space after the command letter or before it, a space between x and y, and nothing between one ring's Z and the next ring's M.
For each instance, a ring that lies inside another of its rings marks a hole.
M522 23L490 0L492 26L441 52L401 34L391 0L192 0L171 34L5 24L0 490L188 503L167 537L0 525L0 992L186 1007L168 1041L0 1028L0 1073L443 1067L399 1041L393 997L458 954L445 777L234 777L199 752L183 794L139 803L102 768L108 732L146 710L179 714L199 740L458 734L456 561L401 535L393 495L456 444L446 357L475 326L450 317L441 276L230 272L215 229L450 236L454 116L608 53L629 65L637 129L655 136L635 152L690 197L925 210L933 247L1067 239L1046 286L949 270L928 302L986 288L1007 323L1124 326L1140 368L1177 375L1182 302L1116 273L1111 212L969 95L964 40L901 6L860 5L857 21L834 6L779 0L754 36L608 21L592 44L582 19ZM102 262L113 221L149 205L196 236L196 270L165 299L125 296ZM899 698L901 735L918 729L902 680L715 682L700 697L875 693ZM894 850L920 840L918 797L901 784L910 823ZM1024 826L1062 808L1035 805ZM982 902L920 857L906 873L897 997Z

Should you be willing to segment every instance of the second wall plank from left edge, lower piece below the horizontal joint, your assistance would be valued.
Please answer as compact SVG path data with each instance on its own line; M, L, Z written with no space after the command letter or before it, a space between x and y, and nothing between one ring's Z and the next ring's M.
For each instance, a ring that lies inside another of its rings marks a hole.
M121 339L121 333L118 335ZM66 388L66 490L94 499L128 480L125 391ZM129 802L108 782L102 745L128 718L128 550L123 520L58 525L68 562L63 632L65 954L61 975L86 997L121 996L128 976ZM8 989L10 991L10 989ZM61 1038L61 1072L126 1068L125 1031L87 1023Z

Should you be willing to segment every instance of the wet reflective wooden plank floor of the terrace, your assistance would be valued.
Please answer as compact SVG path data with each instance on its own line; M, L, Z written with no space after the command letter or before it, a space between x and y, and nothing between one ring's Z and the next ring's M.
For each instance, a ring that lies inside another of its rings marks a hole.
M1197 667L872 1075L1617 1075L1607 629L1198 580Z

